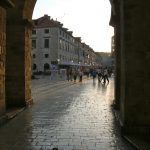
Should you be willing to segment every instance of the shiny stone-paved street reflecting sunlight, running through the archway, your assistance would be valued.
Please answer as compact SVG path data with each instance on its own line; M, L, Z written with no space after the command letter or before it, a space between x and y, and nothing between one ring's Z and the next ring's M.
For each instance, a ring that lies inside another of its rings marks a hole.
M34 105L0 128L0 150L134 150L114 120L113 79L48 87L34 83Z

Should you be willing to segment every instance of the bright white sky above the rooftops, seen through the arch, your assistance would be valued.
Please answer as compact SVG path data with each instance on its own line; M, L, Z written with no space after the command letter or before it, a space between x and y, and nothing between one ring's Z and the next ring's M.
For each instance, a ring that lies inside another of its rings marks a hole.
M33 19L47 14L95 52L110 52L114 33L109 26L110 12L109 0L37 0Z

